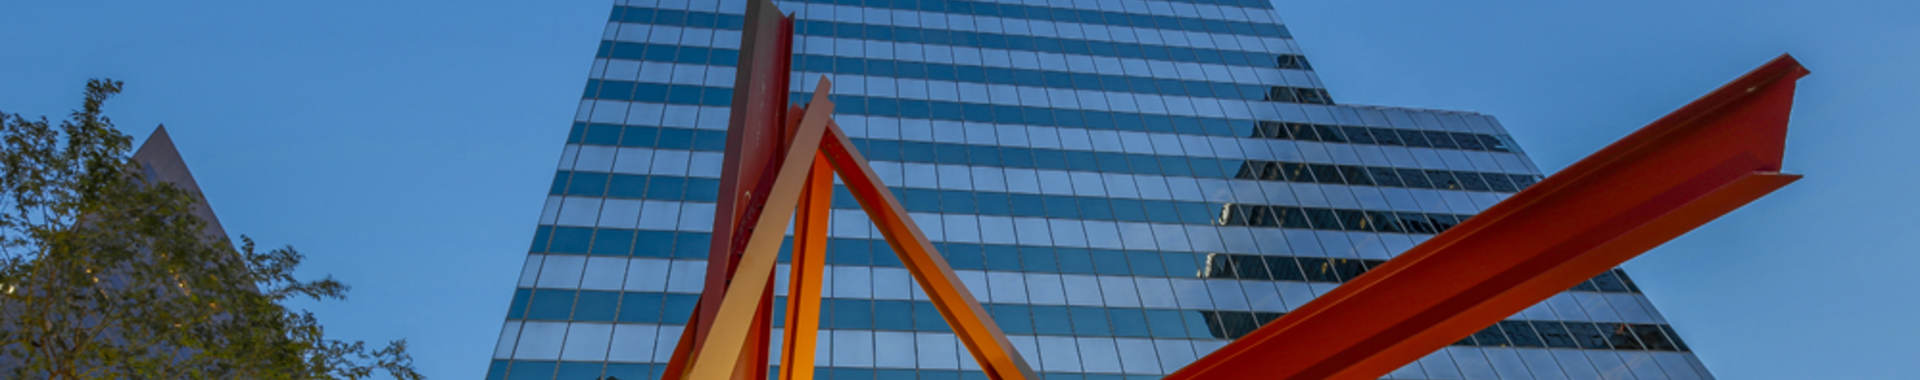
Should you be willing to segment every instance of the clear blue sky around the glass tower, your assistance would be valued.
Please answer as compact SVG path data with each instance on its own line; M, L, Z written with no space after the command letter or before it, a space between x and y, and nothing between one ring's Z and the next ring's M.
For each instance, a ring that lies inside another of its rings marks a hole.
M353 284L328 334L478 378L607 17L582 2L17 0L0 111L88 77L236 234ZM1801 180L1628 263L1722 378L1920 376L1914 2L1281 2L1336 100L1498 115L1548 171L1782 54Z

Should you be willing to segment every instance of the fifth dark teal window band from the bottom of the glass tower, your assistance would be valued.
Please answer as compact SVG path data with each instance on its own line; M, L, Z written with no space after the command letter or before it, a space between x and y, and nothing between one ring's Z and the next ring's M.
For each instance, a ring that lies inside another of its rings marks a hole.
M720 152L726 148L722 131L660 129L660 127L618 127L618 125L576 125L568 142L595 146L645 146L668 150ZM910 142L852 138L866 159L899 163L945 163L975 167L1048 169L1083 173L1121 173L1121 175L1162 175L1196 178L1242 178L1275 182L1317 182L1354 184L1388 188L1430 188L1465 192L1519 192L1538 182L1534 175L1480 173L1480 171L1438 171L1404 167L1361 167L1329 163L1290 163L1263 159L1210 159L1188 155L1150 155L1116 154L1087 150L1052 148L1010 148L985 144L950 142ZM563 184L555 177L555 188ZM586 190L603 192L588 184ZM555 190L559 194L559 190Z

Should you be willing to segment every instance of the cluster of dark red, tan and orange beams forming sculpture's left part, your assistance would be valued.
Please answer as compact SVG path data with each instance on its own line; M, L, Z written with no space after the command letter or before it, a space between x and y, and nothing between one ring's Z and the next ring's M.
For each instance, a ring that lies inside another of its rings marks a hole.
M766 378L774 261L787 221L793 259L780 378L812 378L835 173L987 376L1031 378L1000 326L833 123L831 84L820 79L806 107L787 107L791 59L793 17L768 0L749 2L707 284L664 378Z

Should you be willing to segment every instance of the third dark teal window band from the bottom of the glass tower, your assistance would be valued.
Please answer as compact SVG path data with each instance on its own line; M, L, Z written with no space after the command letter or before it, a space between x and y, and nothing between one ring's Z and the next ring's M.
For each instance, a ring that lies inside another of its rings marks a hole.
M712 234L541 226L530 251L580 255L637 255L662 259L705 259ZM791 238L780 253L787 263ZM1089 249L1006 244L933 244L956 271L1060 273L1106 276L1236 278L1290 282L1348 282L1380 267L1380 259L1340 259L1308 255L1238 255L1148 249ZM828 265L902 267L883 240L829 238ZM1607 271L1572 286L1580 292L1638 294L1624 271Z

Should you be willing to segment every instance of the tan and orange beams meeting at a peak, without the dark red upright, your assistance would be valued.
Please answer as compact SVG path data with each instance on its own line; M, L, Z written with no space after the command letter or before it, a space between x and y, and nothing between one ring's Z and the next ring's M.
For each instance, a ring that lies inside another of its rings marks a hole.
M670 363L668 370L685 368L685 372L674 372L680 378L722 378L737 374L735 368L747 365L764 365L764 361L743 363L745 355L741 353L753 349L749 347L753 326L768 322L755 317L755 307L770 297L764 288L772 282L762 273L774 271L774 261L780 255L781 226L785 226L789 217L801 213L803 217L795 225L795 234L799 236L795 244L795 274L789 276L789 324L781 342L785 349L783 363L787 363L783 367L787 368L781 370L781 378L810 376L812 361L803 357L812 355L818 330L820 255L824 255L826 248L824 226L831 202L831 177L828 175L839 173L849 192L860 202L868 217L874 219L887 244L900 255L908 273L927 292L941 317L947 319L987 376L996 380L1033 378L1031 367L1020 357L1012 342L1006 340L1000 326L987 317L987 311L966 290L966 284L952 273L947 259L933 249L933 244L920 232L920 226L906 215L899 200L885 190L887 186L879 182L879 177L874 175L866 159L852 148L847 134L833 125L833 104L826 98L828 90L829 83L820 79L812 104L803 111L797 129L789 134L791 142L774 175L766 205L758 209L756 217L749 219L755 226L745 232L747 242L733 278L728 280L724 292L708 294L716 296L710 299L716 299L718 313L712 324L708 324L712 328L707 340L693 342L682 338L682 345L676 347L680 351L674 357L691 359L682 367Z

